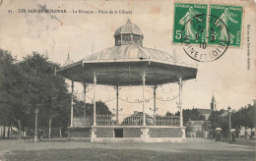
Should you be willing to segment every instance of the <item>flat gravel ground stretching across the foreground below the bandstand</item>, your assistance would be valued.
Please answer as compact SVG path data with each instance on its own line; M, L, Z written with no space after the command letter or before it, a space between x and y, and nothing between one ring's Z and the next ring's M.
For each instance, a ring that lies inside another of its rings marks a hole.
M2 140L0 160L255 160L255 143L229 144L203 138L178 143L90 143Z

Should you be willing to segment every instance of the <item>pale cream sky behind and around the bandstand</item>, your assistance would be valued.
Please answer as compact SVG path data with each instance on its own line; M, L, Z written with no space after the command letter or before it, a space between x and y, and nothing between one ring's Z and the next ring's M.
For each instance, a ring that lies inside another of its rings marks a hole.
M216 3L224 1L216 1ZM226 1L227 2L227 1ZM37 51L52 62L64 64L69 53L74 61L80 61L94 52L114 46L114 31L124 25L128 18L139 26L144 33L144 46L176 55L182 61L198 65L195 80L187 80L183 85L183 108L207 108L213 94L217 109L230 106L237 110L253 103L256 99L256 59L255 59L255 5L253 1L241 4L244 6L242 47L229 47L224 56L214 62L201 63L189 58L181 45L172 44L173 2L172 1L2 1L0 5L0 48L9 50L18 60ZM19 9L66 9L66 14L18 13ZM8 11L17 11L8 14ZM74 14L73 10L84 11L132 11L127 14ZM246 16L245 16L246 15ZM247 25L250 29L250 70L247 70ZM70 80L67 80L70 83ZM89 86L91 88L91 86ZM75 90L83 92L80 83L75 83ZM146 98L153 97L152 87L146 88ZM93 97L93 90L88 93ZM111 86L96 86L96 100L108 101L115 97ZM178 94L178 85L165 84L158 88L158 97L166 100ZM123 87L120 98L129 101L142 99L142 87ZM90 98L88 102L92 102ZM106 104L115 108L115 101ZM158 113L176 112L176 102L157 100ZM126 103L119 100L120 115L142 111L142 104ZM153 114L153 99L146 103L146 112Z

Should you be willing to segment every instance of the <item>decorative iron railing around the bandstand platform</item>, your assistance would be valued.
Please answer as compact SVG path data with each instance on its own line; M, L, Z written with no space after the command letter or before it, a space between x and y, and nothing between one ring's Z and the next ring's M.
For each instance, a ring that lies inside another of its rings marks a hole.
M73 117L73 126L93 126L94 116ZM119 115L119 121L116 123L116 117L113 115L96 115L97 126L143 126L143 115ZM146 126L176 126L180 125L179 116L161 117L146 115Z

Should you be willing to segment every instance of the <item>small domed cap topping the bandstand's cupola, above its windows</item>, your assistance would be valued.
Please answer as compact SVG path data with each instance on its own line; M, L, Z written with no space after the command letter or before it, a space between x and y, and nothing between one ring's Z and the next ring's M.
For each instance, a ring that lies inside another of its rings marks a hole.
M118 27L115 30L114 36L118 34L124 34L124 33L134 33L134 34L143 35L141 28L132 24L130 20L128 20L125 25Z

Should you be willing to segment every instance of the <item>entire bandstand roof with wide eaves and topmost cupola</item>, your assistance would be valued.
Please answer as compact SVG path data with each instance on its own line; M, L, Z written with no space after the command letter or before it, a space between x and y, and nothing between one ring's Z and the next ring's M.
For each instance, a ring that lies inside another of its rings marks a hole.
M115 45L96 52L83 60L62 67L57 71L69 80L82 83L107 85L141 85L142 75L146 84L195 79L197 67L177 61L172 55L152 48L143 47L140 27L128 21L114 33Z

